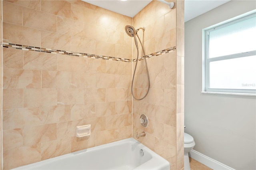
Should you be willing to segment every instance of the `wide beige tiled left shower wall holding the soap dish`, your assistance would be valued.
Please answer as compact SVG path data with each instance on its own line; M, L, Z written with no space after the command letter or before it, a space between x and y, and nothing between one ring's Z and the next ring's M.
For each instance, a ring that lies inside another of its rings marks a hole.
M3 1L4 169L132 137L126 24L83 1Z

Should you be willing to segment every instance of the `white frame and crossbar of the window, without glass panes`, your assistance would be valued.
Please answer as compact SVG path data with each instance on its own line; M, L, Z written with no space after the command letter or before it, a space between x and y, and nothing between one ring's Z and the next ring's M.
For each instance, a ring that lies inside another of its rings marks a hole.
M224 28L226 26L230 26L232 24L241 22L243 20L246 20L248 18L252 18L256 16L256 10L253 10L251 12L248 12L246 14L240 15L238 17L232 18L230 20L220 22L218 24L215 24L214 26L210 26L208 28L205 28L202 30L203 34L203 69L202 69L202 80L203 80L203 92L220 92L220 93L248 93L248 94L256 94L256 90L254 89L216 89L216 88L210 88L210 62L212 61L221 61L226 59L235 59L235 58L241 58L241 57L248 57L252 55L256 55L256 50L254 51L246 51L243 53L236 53L231 55L224 55L219 57L212 57L209 58L209 32L213 30L218 30L221 28ZM256 78L256 77L255 77Z

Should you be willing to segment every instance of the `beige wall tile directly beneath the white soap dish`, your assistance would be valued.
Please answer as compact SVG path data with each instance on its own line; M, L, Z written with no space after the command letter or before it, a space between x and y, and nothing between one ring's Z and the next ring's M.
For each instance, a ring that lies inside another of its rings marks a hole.
M71 152L91 148L95 146L95 133L91 133L90 136L84 136L78 138L76 136L71 137Z

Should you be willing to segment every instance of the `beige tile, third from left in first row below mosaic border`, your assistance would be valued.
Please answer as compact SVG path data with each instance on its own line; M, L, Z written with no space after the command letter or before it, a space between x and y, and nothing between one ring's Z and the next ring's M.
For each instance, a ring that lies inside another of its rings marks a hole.
M84 72L84 58L58 54L58 71Z

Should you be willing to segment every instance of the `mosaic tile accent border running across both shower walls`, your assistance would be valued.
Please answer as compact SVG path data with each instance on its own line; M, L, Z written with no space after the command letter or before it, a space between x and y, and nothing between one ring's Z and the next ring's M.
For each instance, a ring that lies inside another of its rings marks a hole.
M5 48L21 49L24 51L37 51L37 52L42 52L42 53L53 53L53 54L71 55L71 56L77 56L77 57L106 59L106 60L113 60L113 61L124 61L124 62L129 62L129 63L132 63L137 60L137 59L125 59L125 58L110 57L110 56L104 56L104 55L94 55L94 54L88 54L88 53L64 51L64 50L58 50L58 49L40 48L40 47L33 47L33 46L28 46L28 45L20 45L20 44L14 44L14 43L6 43L6 42L2 42L1 45L2 45L2 47L5 47ZM158 51L156 53L146 55L146 58L151 58L154 56L166 54L166 53L169 53L170 51L174 51L174 50L176 50L176 47L171 47L168 49L164 49L162 51ZM140 61L142 59L144 59L144 57L138 58L138 61Z

